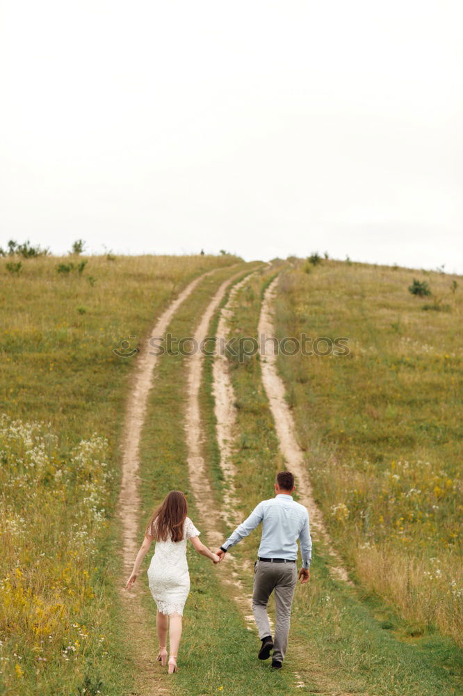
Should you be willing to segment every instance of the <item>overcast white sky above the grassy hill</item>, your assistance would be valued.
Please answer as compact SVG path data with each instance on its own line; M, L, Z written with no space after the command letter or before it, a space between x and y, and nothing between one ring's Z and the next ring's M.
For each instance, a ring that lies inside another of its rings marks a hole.
M3 0L0 245L463 273L461 0Z

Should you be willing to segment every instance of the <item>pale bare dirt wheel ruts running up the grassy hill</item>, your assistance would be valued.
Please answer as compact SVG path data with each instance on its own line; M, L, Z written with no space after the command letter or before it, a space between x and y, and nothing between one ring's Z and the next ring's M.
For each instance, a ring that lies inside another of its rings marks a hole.
M152 330L152 336L160 336L168 329L168 324L182 302L195 289L197 284L204 276L213 273L209 271L200 278L196 278L190 283L183 292L174 300L167 310L161 315L156 326ZM195 331L195 340L198 344L208 335L211 318L216 312L222 301L227 288L243 271L225 280L214 294L209 306L200 319L200 324ZM222 308L218 324L217 338L225 338L227 335L227 317L231 313L236 292L239 287L247 281L246 276L241 282L237 283L230 292L227 306ZM270 303L276 289L277 279L268 287L266 296L261 309L259 321L259 335L265 333L266 336L273 335L273 326L270 318ZM314 503L311 495L309 481L302 468L302 452L298 448L293 433L293 423L291 413L284 400L284 385L276 372L276 356L267 355L263 357L261 366L263 372L263 385L266 388L270 399L275 423L277 424L277 435L284 457L288 461L289 467L294 471L298 478L298 490L300 500L307 505L311 516L311 526L323 537L330 552L335 556L330 545L330 539L323 525L320 512ZM127 592L123 589L125 581L129 577L133 567L136 553L140 546L138 540L138 521L140 516L140 497L138 494L138 468L139 468L139 445L140 434L145 420L147 410L147 399L149 390L153 384L153 371L156 365L156 356L149 355L147 342L142 347L137 361L137 370L134 377L133 390L127 402L126 419L122 438L122 485L120 490L118 514L122 521L123 530L123 565L124 582L121 583L120 591L127 607L127 631L130 635L130 642L133 644L134 659L136 661L136 684L133 692L135 695L154 696L159 693L166 693L163 675L156 670L155 662L155 636L147 628L145 612L141 606L139 593L146 591L143 588L136 588L136 592ZM220 447L220 466L225 477L224 505L222 511L218 512L211 489L211 484L206 475L206 466L202 455L202 426L200 418L200 386L202 380L203 355L200 351L188 358L188 397L186 408L186 443L188 448L188 475L190 485L195 498L202 528L211 548L218 547L223 541L220 531L220 516L230 525L235 525L239 521L237 514L237 500L234 490L234 468L230 454L232 452L232 441L234 440L234 392L232 383L229 379L227 358L218 357L213 366L213 394L215 397L215 412L217 418L217 436ZM335 556L336 557L336 556ZM234 557L230 555L226 559L228 572L224 573L222 566L217 567L216 571L220 574L220 580L227 585L229 592L234 597L239 608L243 612L247 628L255 631L254 617L252 615L251 596L245 592L241 584ZM251 571L251 564L249 570ZM348 580L345 569L337 564L333 569L334 574L343 580ZM303 654L303 651L302 651ZM304 687L299 674L295 674L299 687ZM334 693L334 692L333 692ZM341 692L336 692L341 693Z

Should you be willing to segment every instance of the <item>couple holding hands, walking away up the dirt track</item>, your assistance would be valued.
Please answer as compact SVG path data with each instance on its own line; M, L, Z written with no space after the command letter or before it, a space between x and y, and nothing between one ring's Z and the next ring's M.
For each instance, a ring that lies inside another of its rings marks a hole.
M181 638L181 617L188 593L190 576L186 561L186 541L189 539L198 553L215 564L222 562L228 549L262 523L262 538L258 558L254 563L254 590L252 610L261 639L259 660L267 660L273 650L272 667L283 665L288 643L291 605L298 577L301 583L310 578L312 541L307 509L293 500L294 476L281 471L275 481L275 498L263 500L216 553L200 541L200 532L187 516L188 506L184 493L170 491L163 503L154 511L145 531L145 539L138 551L126 589L135 582L140 565L156 541L154 555L147 571L149 590L156 602L156 628L159 638L157 661L163 666L168 662L168 672L177 672L177 654ZM302 568L296 567L298 540L302 556ZM275 591L277 625L272 638L268 622L267 605ZM169 659L167 638L169 631Z

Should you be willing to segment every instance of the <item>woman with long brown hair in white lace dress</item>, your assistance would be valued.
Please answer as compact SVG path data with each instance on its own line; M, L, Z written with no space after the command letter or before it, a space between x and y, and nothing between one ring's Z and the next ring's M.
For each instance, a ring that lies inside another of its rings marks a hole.
M127 580L129 590L138 576L138 569L153 539L156 539L148 568L149 590L157 606L156 628L159 638L159 655L156 660L165 666L167 660L167 633L169 628L169 674L177 672L177 654L181 637L181 617L188 592L190 574L186 562L186 539L190 539L198 553L214 563L219 562L216 553L209 551L199 539L200 532L186 516L188 505L181 491L170 491L163 503L152 514L146 528L145 539L138 551L133 571Z

